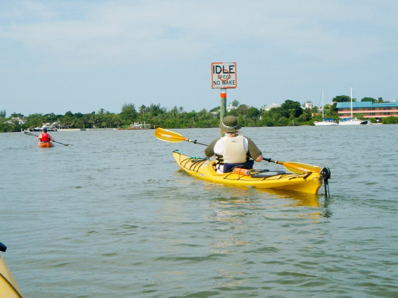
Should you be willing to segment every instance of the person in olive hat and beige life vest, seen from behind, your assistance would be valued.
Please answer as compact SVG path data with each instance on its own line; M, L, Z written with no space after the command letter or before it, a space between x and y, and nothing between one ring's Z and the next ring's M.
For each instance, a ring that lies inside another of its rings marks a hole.
M213 140L204 149L207 157L215 155L218 173L227 173L235 166L252 169L254 161L263 160L263 154L254 142L238 134L241 126L235 116L224 117L219 127L225 136Z

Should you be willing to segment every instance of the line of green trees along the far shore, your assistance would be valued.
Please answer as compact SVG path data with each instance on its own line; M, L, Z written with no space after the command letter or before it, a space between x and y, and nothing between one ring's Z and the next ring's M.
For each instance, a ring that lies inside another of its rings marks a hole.
M356 99L353 99L355 101ZM349 102L351 97L346 95L336 96L332 104L324 105L324 118L333 118L338 121L336 109L337 102ZM361 101L384 102L382 98L374 99L364 97ZM310 103L308 101L308 103ZM305 107L298 101L286 100L280 107L270 110L240 104L237 100L232 101L234 107L229 110L228 115L238 117L239 124L243 127L259 126L299 126L313 125L314 121L322 120L319 107ZM355 117L363 119L363 115ZM174 106L171 109L162 107L160 103L151 103L149 106L140 105L136 108L133 103L125 103L120 113L111 113L100 109L88 114L66 112L64 115L54 113L34 113L24 116L21 113L12 113L8 117L5 110L0 110L0 132L18 132L30 128L41 127L43 123L57 122L65 128L122 128L132 123L146 123L152 127L162 128L210 128L217 127L220 118L220 107L214 107L207 111L202 109L187 112L183 107ZM376 122L376 119L370 119ZM383 119L383 123L398 123L398 117Z

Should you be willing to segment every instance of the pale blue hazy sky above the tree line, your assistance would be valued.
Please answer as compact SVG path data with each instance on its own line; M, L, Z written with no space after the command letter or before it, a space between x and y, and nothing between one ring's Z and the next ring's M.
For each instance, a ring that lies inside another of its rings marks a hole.
M236 62L233 100L398 100L396 0L0 0L0 110L120 113L220 105L211 63Z

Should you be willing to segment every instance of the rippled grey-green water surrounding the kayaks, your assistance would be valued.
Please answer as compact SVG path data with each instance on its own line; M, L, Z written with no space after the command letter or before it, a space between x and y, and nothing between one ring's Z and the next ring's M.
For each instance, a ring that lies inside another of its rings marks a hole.
M53 132L74 146L52 149L0 134L0 241L24 296L398 297L398 125L242 133L328 166L331 197L196 180L171 152L204 147L153 130Z

